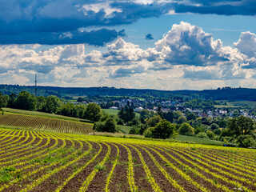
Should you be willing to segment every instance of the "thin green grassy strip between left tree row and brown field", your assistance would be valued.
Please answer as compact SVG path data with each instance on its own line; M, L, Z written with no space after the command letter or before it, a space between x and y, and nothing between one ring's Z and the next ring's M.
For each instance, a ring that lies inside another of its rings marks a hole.
M13 114L28 114L28 115L40 116L40 117L46 117L46 118L58 118L58 119L69 120L74 122L87 122L86 120L81 118L71 118L71 117L66 117L59 114L48 114L48 113L43 113L39 111L17 110L17 109L11 109L11 108L2 108L2 110L4 110L5 112L13 113Z

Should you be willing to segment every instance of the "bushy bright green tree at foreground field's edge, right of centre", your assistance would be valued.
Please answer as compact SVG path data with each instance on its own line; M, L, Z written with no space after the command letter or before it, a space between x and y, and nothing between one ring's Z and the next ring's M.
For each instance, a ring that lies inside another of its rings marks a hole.
M174 130L175 124L162 119L156 126L152 127L152 138L170 138L174 134Z

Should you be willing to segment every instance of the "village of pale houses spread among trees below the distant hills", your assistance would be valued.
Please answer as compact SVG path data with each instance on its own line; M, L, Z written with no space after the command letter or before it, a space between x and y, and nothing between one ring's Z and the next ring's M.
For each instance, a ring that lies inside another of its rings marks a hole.
M170 110L180 111L184 116L188 114L187 112L194 113L198 115L199 118L218 118L218 117L230 117L235 118L240 115L243 115L247 118L256 119L254 110L249 110L246 107L215 107L214 105L207 107L186 107L187 100L183 99L174 99L174 100L158 100L158 99L144 99L144 98L121 98L116 99L111 102L106 101L90 101L98 104L102 108L107 108L111 110L121 110L122 107L125 107L127 103L130 103L130 106L134 109L134 112L140 112L142 110L150 110L154 113L157 112L158 106L161 106L163 112L168 112ZM83 101L82 103L88 104L90 102ZM73 102L78 104L79 102ZM107 107L110 106L110 107ZM207 109L209 108L209 109Z

